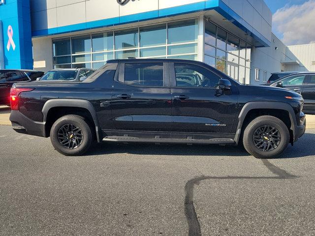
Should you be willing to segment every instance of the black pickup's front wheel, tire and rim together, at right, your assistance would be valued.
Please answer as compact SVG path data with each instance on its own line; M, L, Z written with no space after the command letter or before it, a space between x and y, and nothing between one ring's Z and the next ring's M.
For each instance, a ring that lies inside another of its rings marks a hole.
M245 128L243 136L244 148L254 157L261 159L280 156L289 141L289 130L284 122L272 116L253 119Z

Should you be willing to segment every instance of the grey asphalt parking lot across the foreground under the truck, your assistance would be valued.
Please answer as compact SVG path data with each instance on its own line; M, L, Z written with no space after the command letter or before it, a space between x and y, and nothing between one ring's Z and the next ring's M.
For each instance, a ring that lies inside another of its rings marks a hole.
M96 146L65 157L0 126L0 235L315 235L315 130L282 158L237 147Z

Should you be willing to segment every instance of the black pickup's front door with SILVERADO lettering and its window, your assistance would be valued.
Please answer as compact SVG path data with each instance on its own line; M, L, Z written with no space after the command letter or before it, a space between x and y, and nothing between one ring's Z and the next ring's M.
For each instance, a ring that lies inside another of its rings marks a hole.
M221 77L210 67L170 63L172 132L230 134L237 113L238 91L218 89Z

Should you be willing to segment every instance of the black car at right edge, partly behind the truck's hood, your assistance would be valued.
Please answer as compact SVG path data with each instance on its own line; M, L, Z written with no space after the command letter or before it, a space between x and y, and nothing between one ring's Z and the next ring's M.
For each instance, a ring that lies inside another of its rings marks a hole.
M303 112L315 115L315 72L300 72L270 84L271 87L290 89L304 98Z

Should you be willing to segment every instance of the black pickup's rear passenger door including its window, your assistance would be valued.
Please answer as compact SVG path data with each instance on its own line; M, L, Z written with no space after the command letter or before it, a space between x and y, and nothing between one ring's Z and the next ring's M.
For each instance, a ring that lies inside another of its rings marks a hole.
M171 93L167 63L121 63L115 79L111 107L117 130L165 132L171 126ZM136 135L136 134L135 134ZM162 137L161 137L162 138Z

